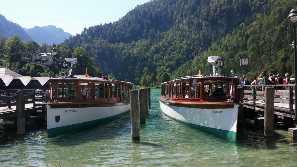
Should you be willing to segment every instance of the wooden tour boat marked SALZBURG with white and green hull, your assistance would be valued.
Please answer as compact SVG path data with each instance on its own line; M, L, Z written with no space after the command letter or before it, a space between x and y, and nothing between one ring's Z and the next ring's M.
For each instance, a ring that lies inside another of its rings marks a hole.
M106 122L130 110L130 90L133 83L102 78L73 77L73 64L77 59L62 62L69 69L66 76L50 79L47 105L48 137Z

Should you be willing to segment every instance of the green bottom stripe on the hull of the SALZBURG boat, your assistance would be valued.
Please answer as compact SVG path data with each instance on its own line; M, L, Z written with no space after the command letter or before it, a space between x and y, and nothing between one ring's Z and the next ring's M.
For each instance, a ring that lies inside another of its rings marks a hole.
M130 111L130 110L128 110ZM55 128L51 128L48 129L48 137L55 137L55 136L59 136L61 134L73 131L73 130L79 130L81 128L87 128L87 127L91 127L91 125L94 125L98 122L100 122L100 124L106 123L116 117L119 117L121 115L127 114L128 111L125 111L121 114L118 115L114 115L114 116L110 116L107 118L102 118L102 119L97 119L97 120L93 120L93 121L89 121L89 122L82 122L82 123L78 123L78 124L74 124L74 125L67 125L67 126L62 126L62 127L55 127ZM98 124L96 124L98 125Z

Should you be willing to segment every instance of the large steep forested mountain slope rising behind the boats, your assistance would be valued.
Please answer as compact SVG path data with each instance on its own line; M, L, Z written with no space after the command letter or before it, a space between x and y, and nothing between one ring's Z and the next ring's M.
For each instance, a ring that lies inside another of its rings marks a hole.
M297 1L154 0L119 21L84 29L62 44L83 47L105 75L138 84L144 67L177 74L211 73L207 56L225 60L223 73L241 75L238 57L249 56L248 78L261 71L293 70L292 28L287 15Z

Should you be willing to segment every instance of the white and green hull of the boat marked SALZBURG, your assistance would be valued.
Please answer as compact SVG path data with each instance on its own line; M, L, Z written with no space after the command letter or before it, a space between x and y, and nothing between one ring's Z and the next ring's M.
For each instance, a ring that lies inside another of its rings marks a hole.
M130 111L130 102L47 104L48 137L104 123Z

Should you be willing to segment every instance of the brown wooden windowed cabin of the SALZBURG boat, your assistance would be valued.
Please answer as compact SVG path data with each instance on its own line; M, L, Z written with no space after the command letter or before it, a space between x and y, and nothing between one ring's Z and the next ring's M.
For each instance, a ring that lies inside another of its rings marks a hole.
M49 102L117 102L130 97L134 84L101 78L50 79Z

